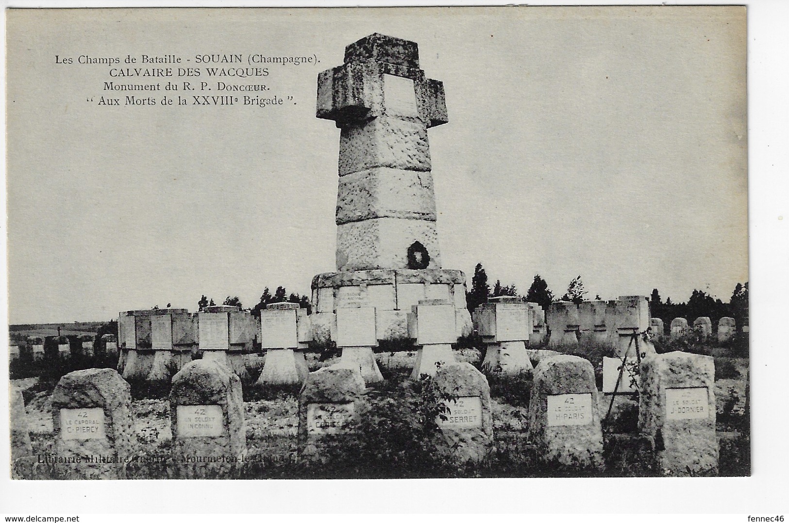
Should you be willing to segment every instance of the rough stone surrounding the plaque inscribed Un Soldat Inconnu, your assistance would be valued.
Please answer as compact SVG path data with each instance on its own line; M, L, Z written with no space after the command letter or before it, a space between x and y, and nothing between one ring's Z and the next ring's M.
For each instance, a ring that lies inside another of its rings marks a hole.
M178 431L179 405L219 405L223 418L221 435L181 435ZM236 465L236 460L246 454L241 380L214 361L195 360L185 365L174 375L170 388L170 427L173 432L171 452L178 465L174 467L178 476L212 478L227 473ZM191 458L225 461L200 463Z

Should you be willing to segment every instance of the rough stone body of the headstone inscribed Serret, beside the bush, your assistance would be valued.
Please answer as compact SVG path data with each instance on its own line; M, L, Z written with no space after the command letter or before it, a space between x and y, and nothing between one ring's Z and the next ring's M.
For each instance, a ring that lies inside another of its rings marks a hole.
M436 439L436 452L446 455L457 463L482 461L487 458L493 446L493 417L488 380L472 364L455 363L443 365L433 376L431 385L437 398L447 400L453 413L446 413L447 420L436 420L439 424L439 438ZM481 418L479 426L459 426L452 423L453 418L462 416L457 398L480 398ZM459 409L459 410L458 410Z

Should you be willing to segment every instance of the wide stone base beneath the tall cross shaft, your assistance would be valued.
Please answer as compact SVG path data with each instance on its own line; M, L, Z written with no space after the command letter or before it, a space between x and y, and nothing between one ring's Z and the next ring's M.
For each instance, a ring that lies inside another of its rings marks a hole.
M336 338L338 308L375 307L380 340L408 337L406 315L420 300L454 304L458 337L472 332L466 275L450 269L372 269L328 272L312 278L312 339Z

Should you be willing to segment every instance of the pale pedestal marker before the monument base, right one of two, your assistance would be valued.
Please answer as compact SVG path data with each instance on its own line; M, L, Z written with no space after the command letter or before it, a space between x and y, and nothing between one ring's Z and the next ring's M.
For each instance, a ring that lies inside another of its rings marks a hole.
M439 364L454 362L455 317L454 304L447 300L421 300L411 307L409 337L419 345L411 379L435 375Z

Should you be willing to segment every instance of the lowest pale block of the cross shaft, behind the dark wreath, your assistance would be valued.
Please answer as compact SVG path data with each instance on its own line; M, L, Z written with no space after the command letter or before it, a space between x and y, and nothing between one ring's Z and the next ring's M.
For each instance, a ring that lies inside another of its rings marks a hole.
M368 219L337 226L337 270L406 269L408 248L421 243L428 269L441 268L436 222L397 218Z

